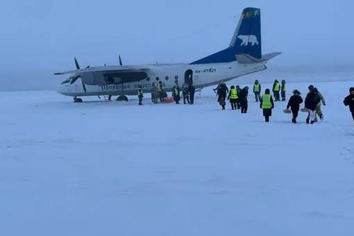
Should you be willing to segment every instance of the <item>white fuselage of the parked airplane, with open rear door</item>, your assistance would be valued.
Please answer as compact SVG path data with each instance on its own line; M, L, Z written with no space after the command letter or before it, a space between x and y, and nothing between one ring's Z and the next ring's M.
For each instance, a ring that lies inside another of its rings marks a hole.
M142 87L144 93L150 92L153 83L162 81L166 92L170 92L174 87L176 79L178 84L185 83L185 71L192 70L192 81L196 89L217 85L220 82L230 81L233 78L251 74L267 69L264 65L267 61L254 64L239 64L235 62L213 63L213 64L153 64L147 65L151 68L148 76L138 82L124 83L122 85L85 85L83 89L81 79L74 83L63 83L58 87L57 92L65 96L99 96L99 95L136 95L137 89ZM187 77L188 78L188 77Z

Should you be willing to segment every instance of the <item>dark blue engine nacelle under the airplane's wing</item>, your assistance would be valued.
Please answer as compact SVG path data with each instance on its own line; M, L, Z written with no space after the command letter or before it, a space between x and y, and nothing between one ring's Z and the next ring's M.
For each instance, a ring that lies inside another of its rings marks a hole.
M147 74L144 71L94 71L81 73L80 76L85 85L106 86L142 81L147 77Z

